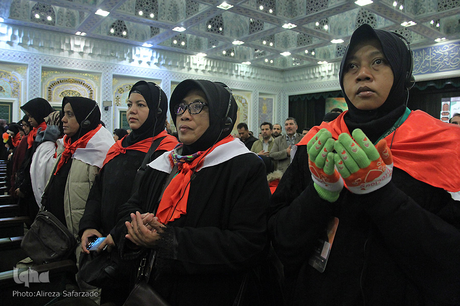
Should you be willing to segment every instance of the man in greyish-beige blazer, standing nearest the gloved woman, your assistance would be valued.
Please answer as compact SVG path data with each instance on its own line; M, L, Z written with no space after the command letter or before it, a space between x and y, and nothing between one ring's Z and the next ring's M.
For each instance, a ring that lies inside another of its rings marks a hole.
M281 170L283 173L291 163L292 147L304 137L304 135L297 133L297 121L292 117L284 121L284 129L286 135L275 138L269 155L275 162L278 162L277 170Z

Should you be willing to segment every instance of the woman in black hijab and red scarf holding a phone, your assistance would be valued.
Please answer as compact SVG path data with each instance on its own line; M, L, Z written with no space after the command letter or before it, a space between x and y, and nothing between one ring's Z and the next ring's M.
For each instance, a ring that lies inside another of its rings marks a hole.
M163 110L168 107L168 99L158 85L137 82L129 92L127 104L126 119L132 132L118 140L108 151L80 220L82 251L86 253L89 253L86 249L88 240L102 236L107 236L107 239L100 247L108 243L108 251L118 252L111 250L113 240L110 231L117 222L119 206L132 194L137 170L142 166L147 151L150 149L153 152L149 157L150 162L150 159L155 159L177 144L176 139L165 130L163 122L166 112ZM120 285L116 288L103 287L101 302L123 304L129 287L125 283Z

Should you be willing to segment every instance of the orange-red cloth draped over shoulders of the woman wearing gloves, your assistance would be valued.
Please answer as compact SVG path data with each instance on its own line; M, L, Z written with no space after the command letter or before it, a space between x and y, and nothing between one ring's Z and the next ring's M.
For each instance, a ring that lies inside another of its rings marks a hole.
M297 145L306 145L320 130L328 129L332 138L351 135L343 116L314 126ZM393 135L395 136L393 138ZM415 179L449 192L460 191L460 176L448 175L460 160L460 129L422 111L412 111L400 127L384 138L390 146L395 167ZM393 140L393 144L392 144Z

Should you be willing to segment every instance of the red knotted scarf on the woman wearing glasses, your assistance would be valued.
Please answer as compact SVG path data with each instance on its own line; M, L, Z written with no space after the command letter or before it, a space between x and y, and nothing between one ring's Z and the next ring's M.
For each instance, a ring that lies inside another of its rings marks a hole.
M192 174L196 171L199 171L203 166L204 158L206 155L210 154L210 152L212 152L219 145L233 140L234 138L232 136L227 136L212 146L211 149L206 150L205 155L198 156L190 163L178 164L179 172L171 180L171 183L169 183L168 187L166 187L162 200L160 201L157 209L156 216L160 222L167 224L168 222L179 218L180 215L187 214L187 200L189 198ZM170 160L172 160L171 154L169 155Z

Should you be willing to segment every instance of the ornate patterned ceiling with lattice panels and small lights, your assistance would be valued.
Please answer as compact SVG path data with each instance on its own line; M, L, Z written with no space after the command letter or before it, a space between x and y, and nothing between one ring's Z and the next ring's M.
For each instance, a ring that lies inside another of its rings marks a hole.
M1 0L4 23L276 70L337 62L362 23L412 48L460 39L460 0ZM96 15L98 10L109 12ZM0 19L1 20L1 19ZM403 27L402 22L416 25ZM291 29L284 24L294 24ZM176 32L176 27L185 28ZM342 39L342 43L332 43ZM235 41L244 42L234 44ZM151 46L150 46L151 45ZM284 56L281 53L288 52Z

